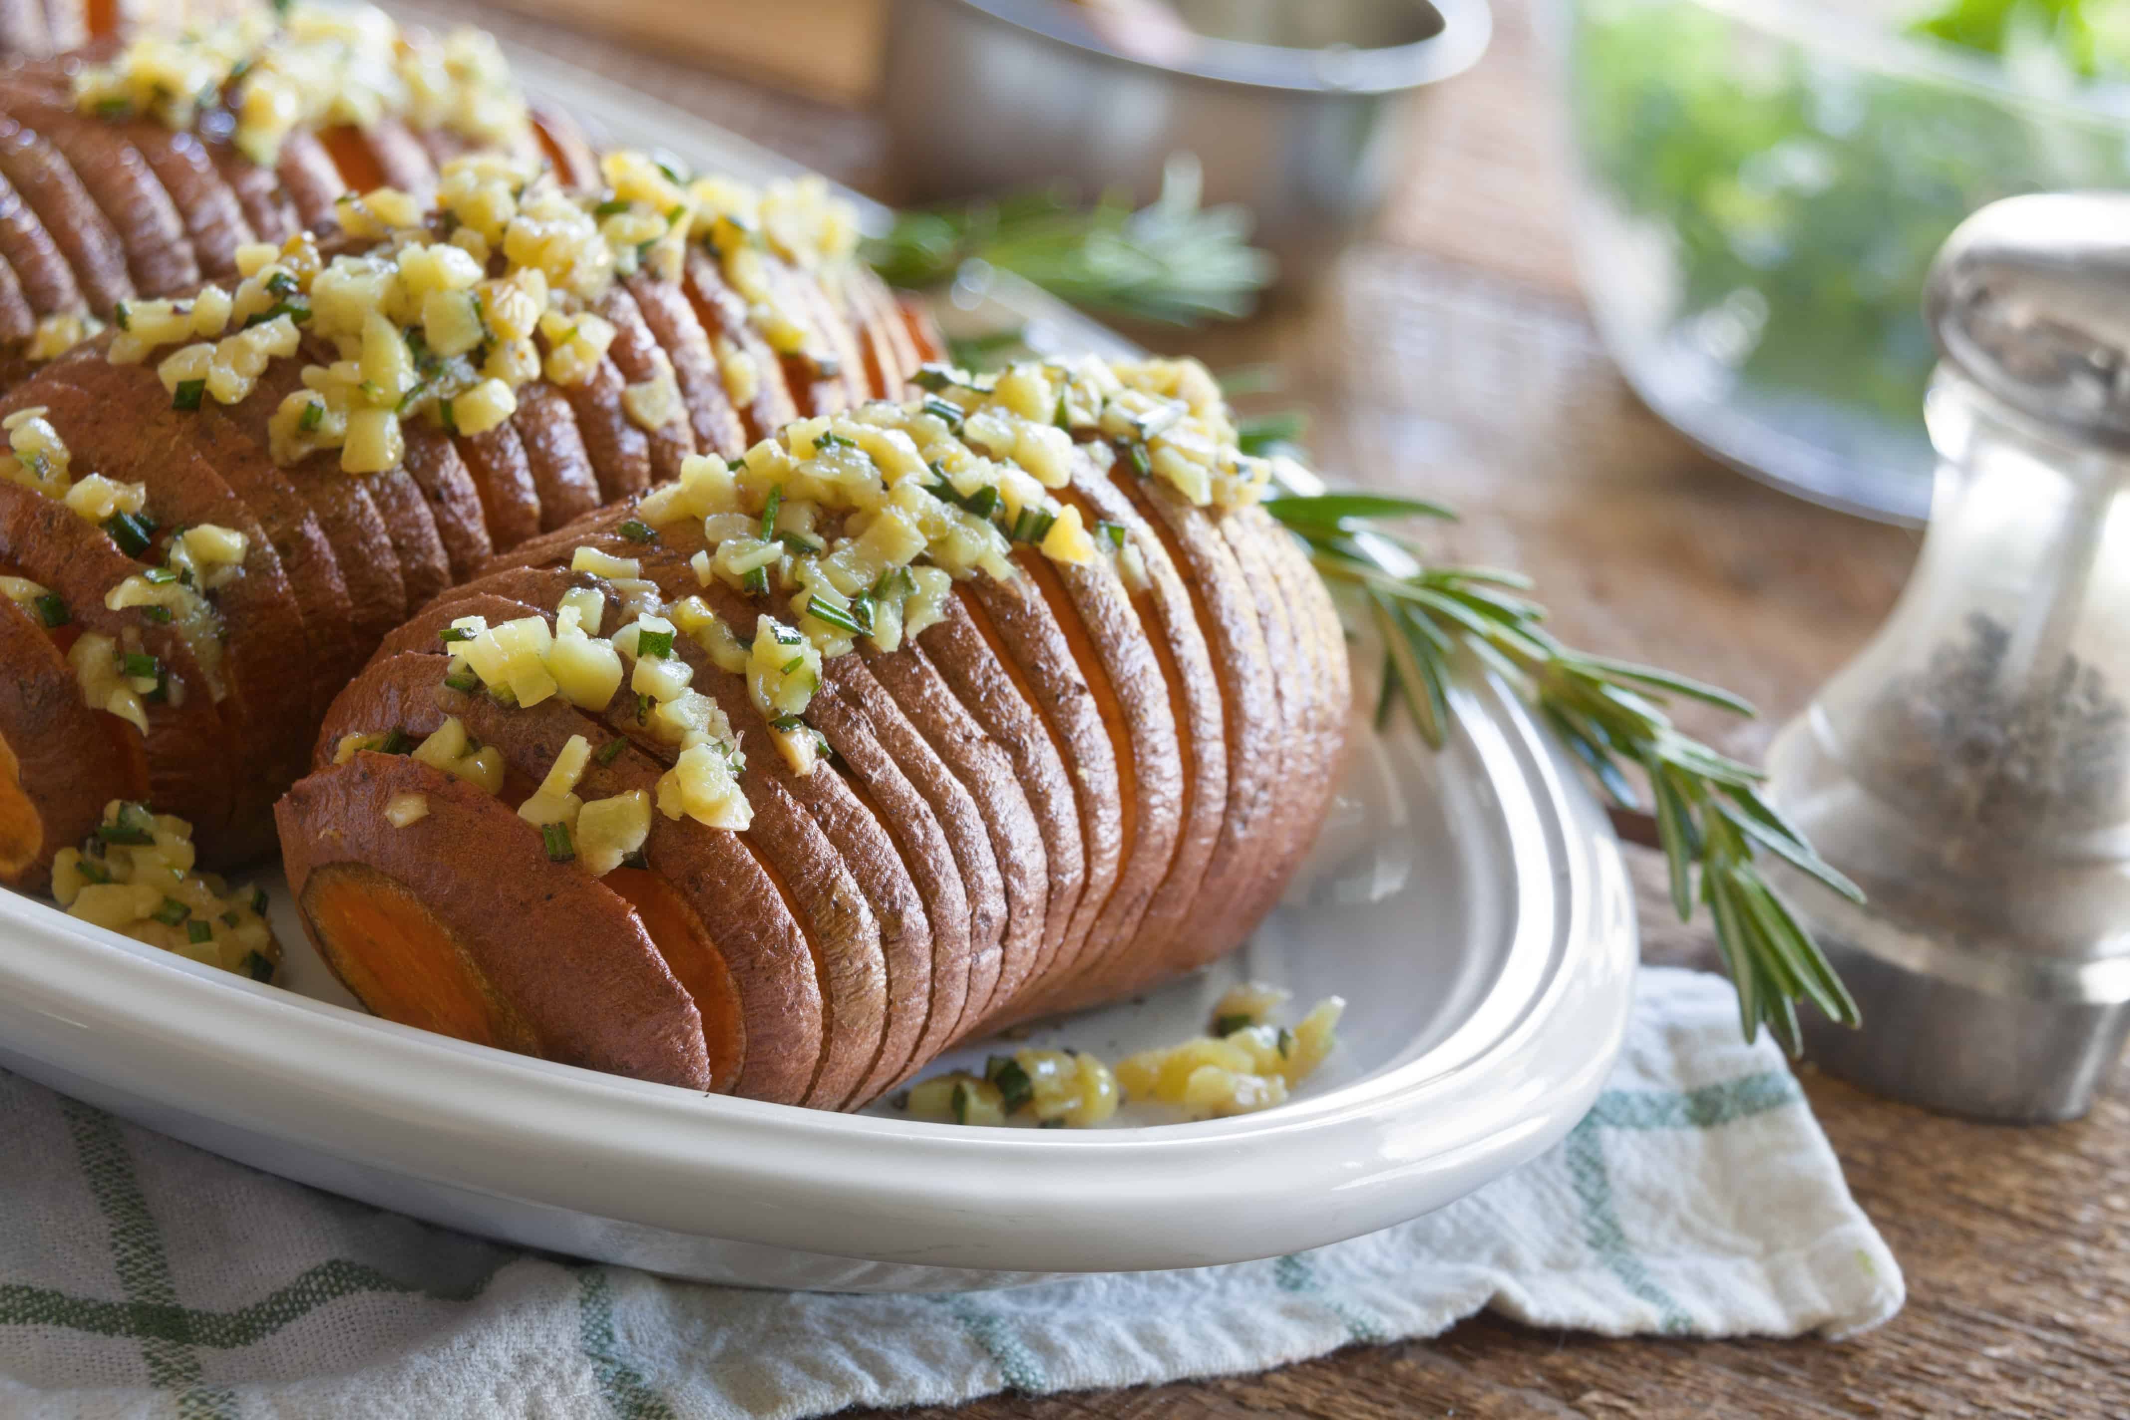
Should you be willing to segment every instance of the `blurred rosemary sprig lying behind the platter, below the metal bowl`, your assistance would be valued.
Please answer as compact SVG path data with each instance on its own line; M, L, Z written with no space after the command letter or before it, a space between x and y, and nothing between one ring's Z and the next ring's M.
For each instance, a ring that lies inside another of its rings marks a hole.
M1248 315L1272 283L1248 238L1242 209L1199 207L1197 160L1178 155L1140 211L1116 196L1080 207L1056 187L931 207L897 215L865 258L890 285L937 285L982 260L1076 307L1197 326Z

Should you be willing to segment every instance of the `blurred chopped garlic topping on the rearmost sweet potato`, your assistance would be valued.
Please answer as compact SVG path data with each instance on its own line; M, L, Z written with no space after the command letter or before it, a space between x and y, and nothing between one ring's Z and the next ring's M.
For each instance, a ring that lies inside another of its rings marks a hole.
M494 38L400 30L368 4L294 4L177 34L143 34L75 75L75 102L102 117L147 115L228 138L273 166L296 128L371 128L400 117L475 143L528 134L524 96Z

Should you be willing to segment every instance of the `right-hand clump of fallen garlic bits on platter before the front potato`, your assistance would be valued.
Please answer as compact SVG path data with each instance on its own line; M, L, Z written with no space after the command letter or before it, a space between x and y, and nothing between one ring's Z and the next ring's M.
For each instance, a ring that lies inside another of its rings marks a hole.
M1197 1120L1282 1105L1331 1054L1346 1003L1327 996L1289 1030L1265 1020L1278 1001L1284 992L1233 990L1216 1007L1214 1035L1127 1056L1116 1077L1135 1099L1176 1105Z

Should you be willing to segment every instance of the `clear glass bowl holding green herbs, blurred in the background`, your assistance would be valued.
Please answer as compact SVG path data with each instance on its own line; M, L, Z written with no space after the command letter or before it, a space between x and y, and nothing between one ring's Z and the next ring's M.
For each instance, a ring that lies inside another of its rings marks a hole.
M1923 275L2002 196L2130 187L2130 96L1902 32L1877 0L1559 0L1576 260L1670 424L1740 470L1921 519Z

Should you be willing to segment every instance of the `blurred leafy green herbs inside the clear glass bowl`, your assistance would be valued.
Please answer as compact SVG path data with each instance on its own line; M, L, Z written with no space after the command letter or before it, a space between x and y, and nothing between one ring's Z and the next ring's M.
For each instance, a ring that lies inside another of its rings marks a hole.
M1947 57L2002 60L2036 96L2121 77L2124 0L1953 0L1908 30L1926 66L1889 72L1791 45L1751 6L1572 9L1574 123L1621 232L1608 260L1664 253L1649 260L1670 268L1672 353L1736 368L1736 398L1770 400L1793 432L1817 413L1830 439L1855 419L1919 445L1934 362L1919 298L1945 236L2015 192L2130 185L2119 123L1928 72L1928 51L1955 45ZM1894 49L1898 9L1879 6ZM1825 23L1868 15L1828 6Z

